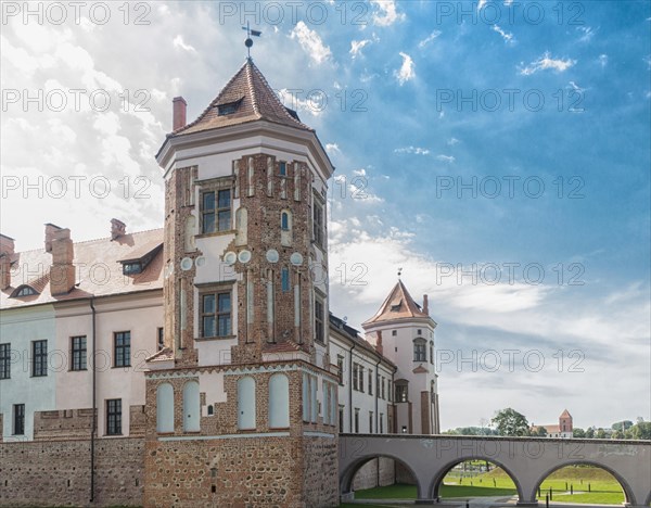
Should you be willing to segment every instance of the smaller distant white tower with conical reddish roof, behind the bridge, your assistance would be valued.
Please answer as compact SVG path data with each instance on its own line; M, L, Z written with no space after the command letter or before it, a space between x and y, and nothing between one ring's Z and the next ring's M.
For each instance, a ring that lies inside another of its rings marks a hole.
M375 315L363 322L367 340L382 344L398 370L394 377L395 429L409 434L437 434L438 376L434 372L434 329L427 295L418 305L401 280Z

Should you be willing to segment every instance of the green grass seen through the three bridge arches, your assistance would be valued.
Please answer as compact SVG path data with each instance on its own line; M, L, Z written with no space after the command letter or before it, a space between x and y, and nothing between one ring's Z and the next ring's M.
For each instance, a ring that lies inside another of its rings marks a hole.
M620 505L624 493L617 481L608 472L591 467L567 467L550 474L540 485L540 500L551 487L556 503ZM571 494L573 488L574 494ZM511 478L501 469L489 472L464 474L451 471L444 479L439 495L443 498L471 498L484 496L514 496L518 494ZM396 484L357 491L357 499L416 499L416 485ZM353 507L355 505L342 505ZM357 505L359 506L359 505ZM386 505L365 505L378 507Z

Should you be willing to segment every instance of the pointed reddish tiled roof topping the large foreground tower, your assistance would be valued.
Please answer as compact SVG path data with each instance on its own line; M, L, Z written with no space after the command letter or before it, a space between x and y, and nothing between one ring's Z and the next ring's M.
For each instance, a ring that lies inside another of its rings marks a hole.
M234 113L219 115L219 106L237 104ZM285 107L273 92L263 73L247 59L240 71L226 84L217 98L194 122L178 128L168 137L266 119L314 132L298 119L296 112Z

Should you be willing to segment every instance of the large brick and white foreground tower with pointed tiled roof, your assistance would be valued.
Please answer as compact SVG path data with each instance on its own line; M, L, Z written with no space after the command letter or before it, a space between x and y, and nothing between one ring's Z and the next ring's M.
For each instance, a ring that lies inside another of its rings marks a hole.
M148 359L145 506L337 506L327 182L316 132L251 59L174 101L165 347Z

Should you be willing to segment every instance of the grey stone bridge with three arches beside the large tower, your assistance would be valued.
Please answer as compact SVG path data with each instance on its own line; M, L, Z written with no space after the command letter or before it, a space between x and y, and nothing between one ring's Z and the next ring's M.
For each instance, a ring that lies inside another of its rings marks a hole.
M651 441L552 440L405 434L340 434L340 490L350 498L355 473L375 457L397 460L418 487L417 503L435 503L447 472L465 460L488 460L502 468L518 488L519 506L537 506L542 481L559 468L591 465L622 485L625 506L651 503Z

